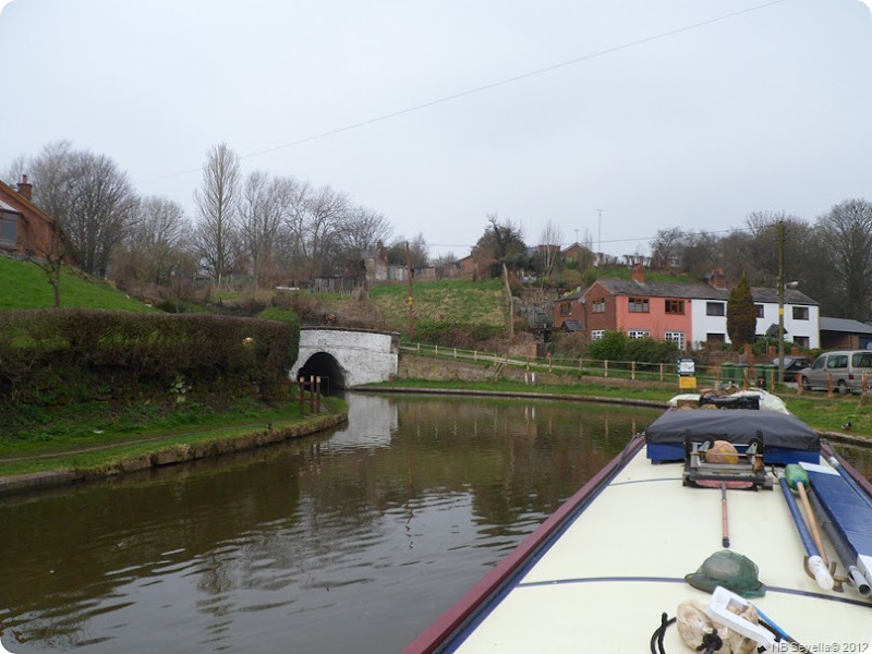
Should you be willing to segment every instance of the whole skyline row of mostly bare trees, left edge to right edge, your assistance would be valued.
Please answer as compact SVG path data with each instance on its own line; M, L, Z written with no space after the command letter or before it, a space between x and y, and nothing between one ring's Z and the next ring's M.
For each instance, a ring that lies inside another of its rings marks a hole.
M62 227L78 266L124 288L177 287L207 277L216 283L244 276L255 287L298 286L315 277L363 278L364 251L386 243L388 263L427 265L423 234L390 243L387 218L356 205L329 185L255 170L243 175L227 144L206 153L194 192L195 215L166 197L140 196L128 174L106 155L69 142L15 159L3 175L35 182L33 199ZM523 229L497 214L486 216L471 249L482 275L529 270L545 286L586 284L595 278L590 238L571 262L560 258L562 234L547 220L536 247ZM784 225L785 280L821 304L822 315L872 318L872 203L847 199L807 222L784 211L755 211L728 231L662 229L651 241L651 265L701 278L722 268L736 283L777 287L779 229ZM435 264L455 261L445 255ZM57 270L55 270L57 272Z

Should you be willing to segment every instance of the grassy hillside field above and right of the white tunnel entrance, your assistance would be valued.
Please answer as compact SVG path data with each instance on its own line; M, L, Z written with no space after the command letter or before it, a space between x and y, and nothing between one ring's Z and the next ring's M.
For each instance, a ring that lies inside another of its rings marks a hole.
M409 328L409 288L379 284L370 298L391 329ZM506 324L506 296L498 279L483 281L417 281L412 287L416 318L501 327Z

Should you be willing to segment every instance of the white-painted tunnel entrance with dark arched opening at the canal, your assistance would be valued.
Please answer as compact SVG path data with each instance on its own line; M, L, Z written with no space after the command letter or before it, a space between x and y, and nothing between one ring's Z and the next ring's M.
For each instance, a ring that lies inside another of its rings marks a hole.
M397 374L400 337L396 332L303 327L300 354L290 372L327 377L330 390L373 382L388 382Z

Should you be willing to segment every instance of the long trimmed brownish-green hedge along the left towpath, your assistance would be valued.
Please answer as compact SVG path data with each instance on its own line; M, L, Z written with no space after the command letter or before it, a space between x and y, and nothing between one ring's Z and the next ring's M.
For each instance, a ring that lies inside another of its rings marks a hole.
M276 379L296 360L293 323L78 308L0 314L0 407Z

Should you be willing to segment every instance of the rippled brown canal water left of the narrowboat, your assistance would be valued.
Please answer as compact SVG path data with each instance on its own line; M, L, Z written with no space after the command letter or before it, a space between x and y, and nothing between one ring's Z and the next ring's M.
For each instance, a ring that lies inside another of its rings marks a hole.
M659 414L348 401L329 433L0 500L3 646L398 652Z

